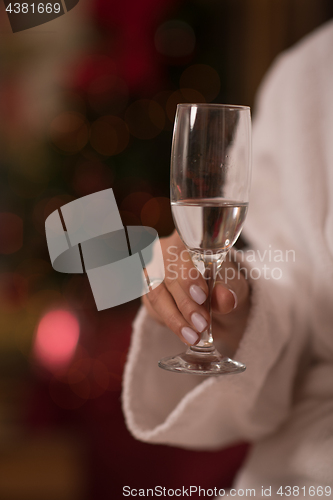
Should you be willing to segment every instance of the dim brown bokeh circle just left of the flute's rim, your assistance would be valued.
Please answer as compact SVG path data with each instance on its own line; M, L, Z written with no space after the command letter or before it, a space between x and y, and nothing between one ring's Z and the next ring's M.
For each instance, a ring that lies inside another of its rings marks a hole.
M127 108L125 120L134 137L153 139L164 128L165 114L158 102L140 99Z

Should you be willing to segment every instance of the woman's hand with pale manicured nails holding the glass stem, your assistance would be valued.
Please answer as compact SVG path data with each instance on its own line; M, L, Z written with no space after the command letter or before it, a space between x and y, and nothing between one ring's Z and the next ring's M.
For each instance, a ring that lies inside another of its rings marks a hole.
M208 294L206 281L194 267L176 231L160 242L165 279L143 297L143 303L154 319L185 344L195 345L210 322L204 304ZM218 276L212 297L214 340L223 341L228 355L238 347L250 310L250 287L237 271L236 264L223 263L219 275L227 277L227 283L222 283Z

